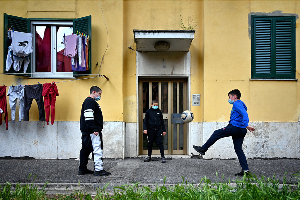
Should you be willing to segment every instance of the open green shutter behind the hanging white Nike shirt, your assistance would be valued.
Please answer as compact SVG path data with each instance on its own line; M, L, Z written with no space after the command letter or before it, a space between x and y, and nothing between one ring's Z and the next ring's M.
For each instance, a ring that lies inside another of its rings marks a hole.
M27 18L16 17L4 13L4 51L3 51L4 52L4 68L3 68L4 74L17 75L17 76L30 76L31 73L30 63L28 65L26 74L23 73L23 67L21 67L20 71L14 71L13 66L11 66L8 72L5 71L6 57L8 53L8 45L6 43L6 40L8 39L7 32L10 28L13 29L14 31L30 33L30 20Z

